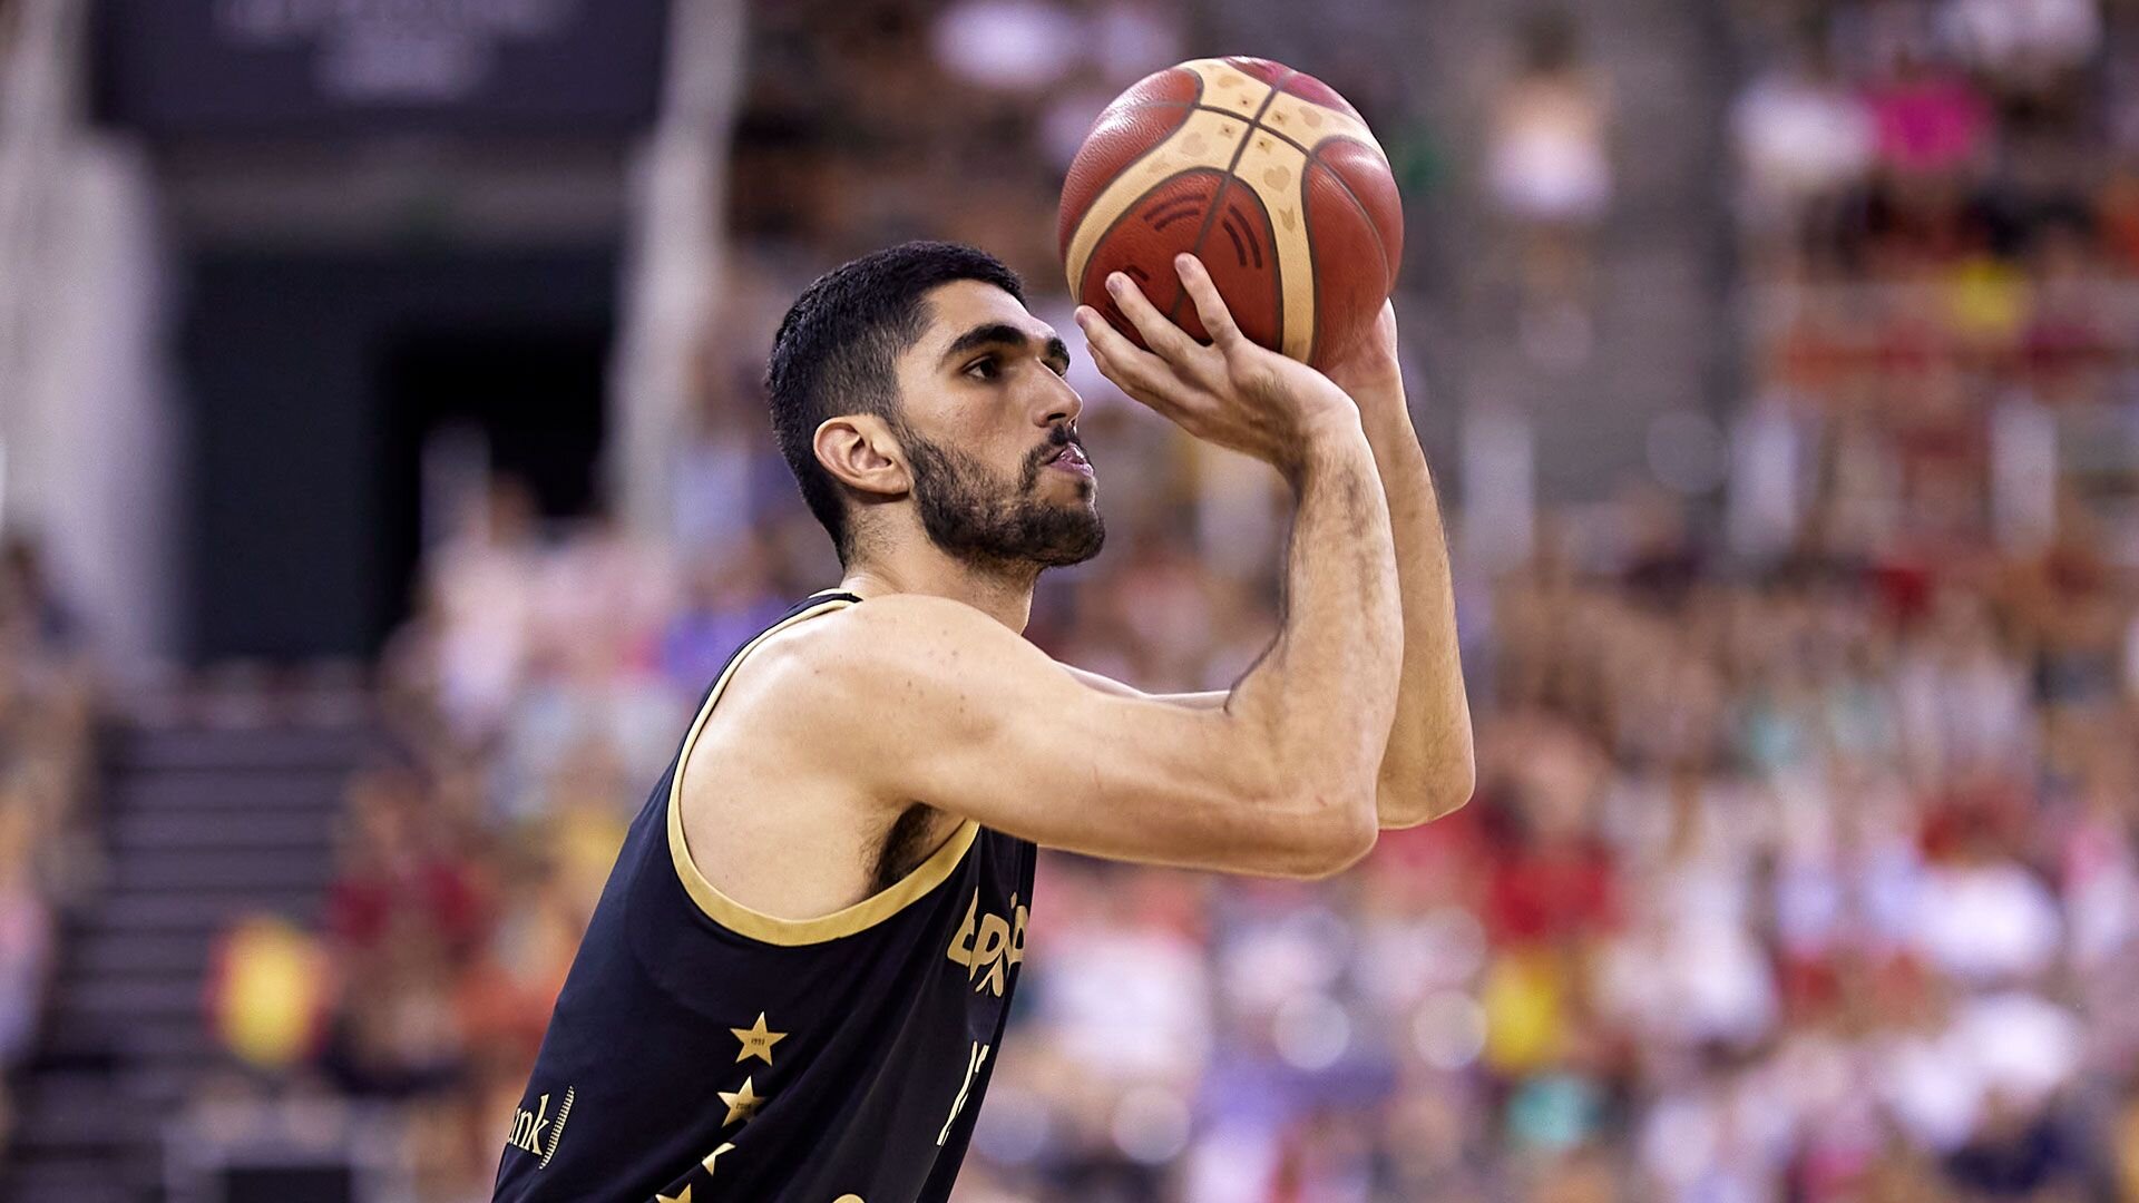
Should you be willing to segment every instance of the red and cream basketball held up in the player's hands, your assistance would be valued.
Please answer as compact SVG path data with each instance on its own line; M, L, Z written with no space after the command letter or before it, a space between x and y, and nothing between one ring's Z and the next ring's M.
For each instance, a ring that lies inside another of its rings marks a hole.
M1174 255L1204 261L1241 332L1326 368L1397 285L1403 208L1388 156L1333 88L1264 58L1198 58L1099 113L1063 182L1070 293L1125 336L1123 272L1196 338Z

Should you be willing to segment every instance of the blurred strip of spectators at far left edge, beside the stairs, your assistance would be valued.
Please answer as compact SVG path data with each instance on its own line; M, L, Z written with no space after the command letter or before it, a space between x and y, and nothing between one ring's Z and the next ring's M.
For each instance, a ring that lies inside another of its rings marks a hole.
M94 880L94 689L79 623L28 535L0 539L0 1149L32 1053L56 916Z

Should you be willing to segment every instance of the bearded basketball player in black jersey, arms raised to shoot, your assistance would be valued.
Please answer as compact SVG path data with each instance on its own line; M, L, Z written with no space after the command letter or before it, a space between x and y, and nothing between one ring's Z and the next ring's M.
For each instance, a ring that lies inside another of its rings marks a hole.
M845 580L727 661L633 822L496 1199L941 1203L1035 846L1320 878L1467 798L1395 319L1333 379L1247 342L1196 259L1179 272L1213 345L1125 278L1153 351L1078 323L1129 396L1292 486L1277 642L1230 691L1147 696L1020 638L1040 572L1104 535L1070 351L980 250L918 242L813 283L768 387Z

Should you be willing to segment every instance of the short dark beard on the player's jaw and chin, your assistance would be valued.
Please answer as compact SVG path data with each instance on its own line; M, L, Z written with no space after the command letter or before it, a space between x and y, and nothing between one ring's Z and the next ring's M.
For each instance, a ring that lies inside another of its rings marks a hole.
M1089 492L1084 503L1067 507L1033 497L1046 462L1070 443L1065 428L1025 458L1014 486L958 447L933 443L905 424L896 435L913 465L922 529L945 552L990 569L1067 567L1099 554L1106 522Z

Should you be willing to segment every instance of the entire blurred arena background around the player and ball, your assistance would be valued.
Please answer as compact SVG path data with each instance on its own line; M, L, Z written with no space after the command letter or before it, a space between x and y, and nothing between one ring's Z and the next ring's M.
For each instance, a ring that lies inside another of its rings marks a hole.
M836 580L772 328L1256 54L1373 122L1476 801L1048 856L960 1203L2139 1199L2139 4L0 0L0 1199L475 1201L627 818ZM1074 377L1031 636L1283 507Z

